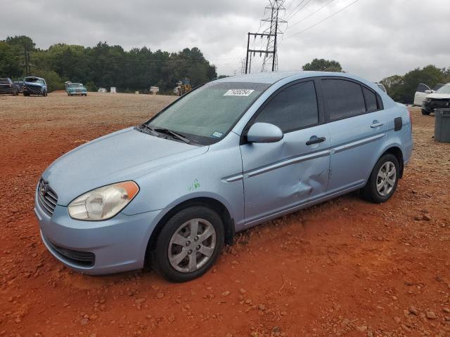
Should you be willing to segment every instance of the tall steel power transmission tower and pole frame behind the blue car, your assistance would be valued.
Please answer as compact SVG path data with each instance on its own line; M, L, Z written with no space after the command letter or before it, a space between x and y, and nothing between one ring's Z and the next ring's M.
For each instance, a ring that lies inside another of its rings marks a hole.
M250 67L252 63L252 53L255 56L259 53L259 56L264 54L264 60L262 62L262 72L271 71L274 72L278 69L278 58L277 58L277 48L276 48L276 37L278 34L283 34L279 31L279 24L287 23L287 21L279 18L280 11L284 11L283 3L285 0L269 0L269 6L266 6L266 10L269 10L271 15L270 18L262 19L263 22L270 22L270 27L262 33L248 33L247 40L247 54L245 55L245 74L250 73ZM250 36L254 37L264 37L267 39L266 49L250 49ZM249 62L250 53L250 62Z

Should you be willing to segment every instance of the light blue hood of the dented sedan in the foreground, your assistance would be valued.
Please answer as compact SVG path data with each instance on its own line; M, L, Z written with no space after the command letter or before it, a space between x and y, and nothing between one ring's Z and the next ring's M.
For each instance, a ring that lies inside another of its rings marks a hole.
M42 174L58 194L58 205L67 206L84 192L150 172L207 152L175 140L158 138L134 128L111 133L63 155Z

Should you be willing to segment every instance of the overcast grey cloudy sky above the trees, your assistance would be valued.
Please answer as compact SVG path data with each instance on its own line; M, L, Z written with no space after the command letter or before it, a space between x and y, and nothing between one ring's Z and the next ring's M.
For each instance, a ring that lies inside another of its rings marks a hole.
M98 41L125 50L196 46L218 74L232 75L240 72L247 33L268 28L260 21L269 16L268 5L269 0L0 0L0 40L27 35L44 49ZM450 67L449 0L285 0L283 7L280 18L288 22L280 25L278 70L301 70L313 58L326 58L379 81L430 64ZM266 41L253 43L265 48ZM259 72L262 58L253 60L252 72Z

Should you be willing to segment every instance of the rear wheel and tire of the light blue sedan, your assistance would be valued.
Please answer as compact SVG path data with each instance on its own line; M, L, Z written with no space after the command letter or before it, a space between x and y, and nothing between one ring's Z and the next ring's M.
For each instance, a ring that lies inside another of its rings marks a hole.
M394 171L392 171L392 169L394 169ZM385 174L386 171L387 176L383 176L383 173ZM397 188L400 176L399 173L400 165L397 157L390 153L384 154L383 157L378 159L377 164L373 167L371 176L368 178L366 186L362 189L362 197L377 204L389 200ZM395 180L392 182L393 177Z

